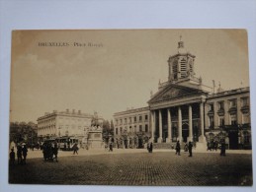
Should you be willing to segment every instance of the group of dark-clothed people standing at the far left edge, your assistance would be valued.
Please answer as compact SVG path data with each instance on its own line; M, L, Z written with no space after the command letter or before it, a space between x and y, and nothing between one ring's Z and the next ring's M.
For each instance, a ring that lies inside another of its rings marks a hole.
M26 164L27 160L27 155L28 155L28 149L26 145L18 145L17 146L17 160L18 164ZM10 152L10 164L15 164L15 152L14 148L11 149Z

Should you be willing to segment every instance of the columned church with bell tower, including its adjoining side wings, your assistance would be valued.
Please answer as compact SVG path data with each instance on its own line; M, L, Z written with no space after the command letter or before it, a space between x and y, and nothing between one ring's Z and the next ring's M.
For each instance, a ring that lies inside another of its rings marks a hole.
M168 81L159 82L148 106L117 112L116 143L124 148L143 148L149 140L166 147L178 140L206 148L224 141L227 149L251 149L250 90L224 91L203 84L196 77L196 56L184 42L168 58Z

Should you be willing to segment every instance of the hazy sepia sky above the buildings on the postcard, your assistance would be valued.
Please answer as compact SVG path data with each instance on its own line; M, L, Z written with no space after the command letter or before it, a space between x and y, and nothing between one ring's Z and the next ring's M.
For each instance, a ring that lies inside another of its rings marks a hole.
M147 106L150 91L167 81L180 35L203 84L249 86L244 30L14 31L10 120L37 122L44 112L67 108L111 120L115 112Z

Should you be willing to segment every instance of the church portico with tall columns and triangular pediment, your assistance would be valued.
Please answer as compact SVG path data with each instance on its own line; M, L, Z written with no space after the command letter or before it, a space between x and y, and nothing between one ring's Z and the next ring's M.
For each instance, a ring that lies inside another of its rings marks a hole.
M202 90L173 84L152 96L148 103L154 143L206 141L205 102Z

